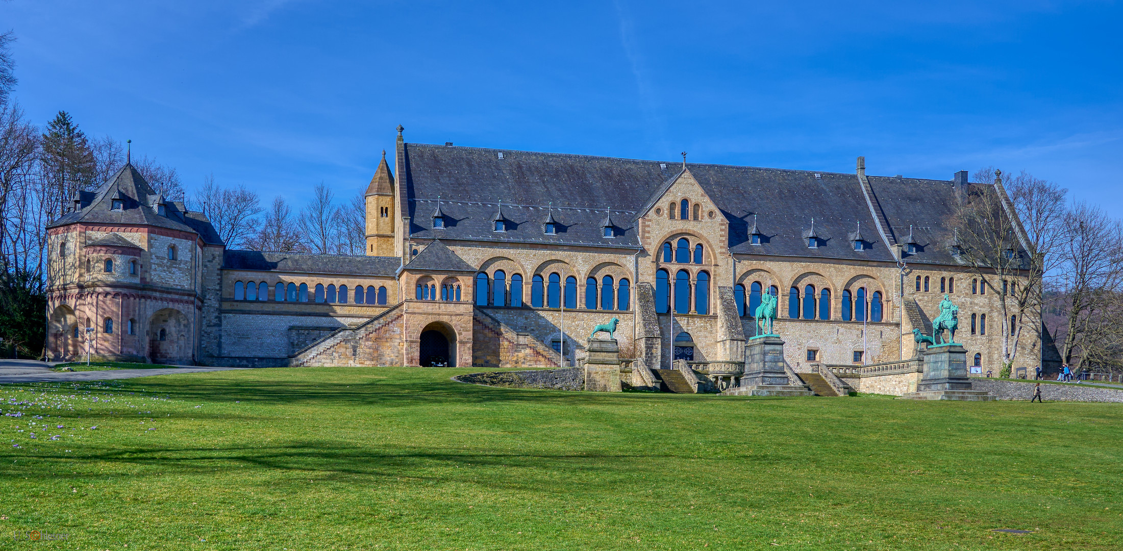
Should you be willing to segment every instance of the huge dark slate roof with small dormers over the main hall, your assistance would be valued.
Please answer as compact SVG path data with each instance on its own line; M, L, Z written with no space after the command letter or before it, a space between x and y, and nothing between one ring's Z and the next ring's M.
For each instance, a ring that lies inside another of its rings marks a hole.
M402 147L404 175L399 176L404 176L405 185L399 193L411 218L410 235L417 238L639 247L636 219L684 171L681 162L426 144ZM733 252L894 261L857 174L695 163L685 169L729 220ZM946 242L951 237L953 180L868 176L868 182L888 220L888 232L903 239L910 224L915 228L921 248L907 261L959 264ZM445 229L433 229L428 215L438 195ZM495 232L491 220L501 201L508 231ZM553 236L542 233L541 223L550 202L558 222ZM614 238L602 233L606 212L619 228ZM754 214L763 237L757 246L749 242ZM814 249L802 238L812 218L819 238ZM858 222L869 244L865 250L853 250L848 239Z

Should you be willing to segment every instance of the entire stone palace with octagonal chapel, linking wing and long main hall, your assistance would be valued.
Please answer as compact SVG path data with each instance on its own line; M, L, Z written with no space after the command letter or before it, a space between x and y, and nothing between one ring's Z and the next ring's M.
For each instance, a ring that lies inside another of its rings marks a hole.
M793 368L912 357L944 294L978 371L993 290L957 256L969 186L408 144L366 192L367 256L227 249L131 165L49 224L51 359L211 366L569 365L619 320L621 357L738 362L763 293ZM958 191L958 192L957 192ZM1024 254L1019 251L1019 254ZM1040 327L1039 320L1026 320ZM86 328L92 328L89 331ZM1035 331L1016 366L1041 357ZM704 364L700 364L704 365ZM797 369L798 370L798 369Z

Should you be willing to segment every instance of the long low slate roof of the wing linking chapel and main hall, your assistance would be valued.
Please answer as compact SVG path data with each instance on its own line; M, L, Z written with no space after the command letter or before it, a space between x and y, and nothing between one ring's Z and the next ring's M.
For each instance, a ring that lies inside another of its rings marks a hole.
M258 272L393 276L399 266L401 259L396 256L312 255L237 249L227 249L222 255L223 269Z

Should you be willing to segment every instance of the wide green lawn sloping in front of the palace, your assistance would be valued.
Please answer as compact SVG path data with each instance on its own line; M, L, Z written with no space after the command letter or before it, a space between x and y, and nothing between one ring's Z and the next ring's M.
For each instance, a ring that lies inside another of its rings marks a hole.
M70 534L2 549L1123 549L1119 404L449 380L468 371L0 385L22 412L0 416L0 529Z

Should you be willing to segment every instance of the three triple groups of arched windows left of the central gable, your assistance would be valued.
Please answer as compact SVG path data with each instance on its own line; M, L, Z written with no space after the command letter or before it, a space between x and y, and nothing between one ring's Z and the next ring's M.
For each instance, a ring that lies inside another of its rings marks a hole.
M522 306L522 275L512 274L510 287L506 284L506 274L503 270L495 270L493 277L481 272L476 274L476 305L477 306ZM629 310L631 307L631 284L628 279L621 278L615 282L610 275L603 276L600 282L595 277L585 279L585 309L586 310ZM562 307L562 300L565 297L565 307L575 310L577 307L577 278L567 276L565 288L562 287L562 275L549 274L546 279L541 275L535 275L530 281L530 305L532 307Z

